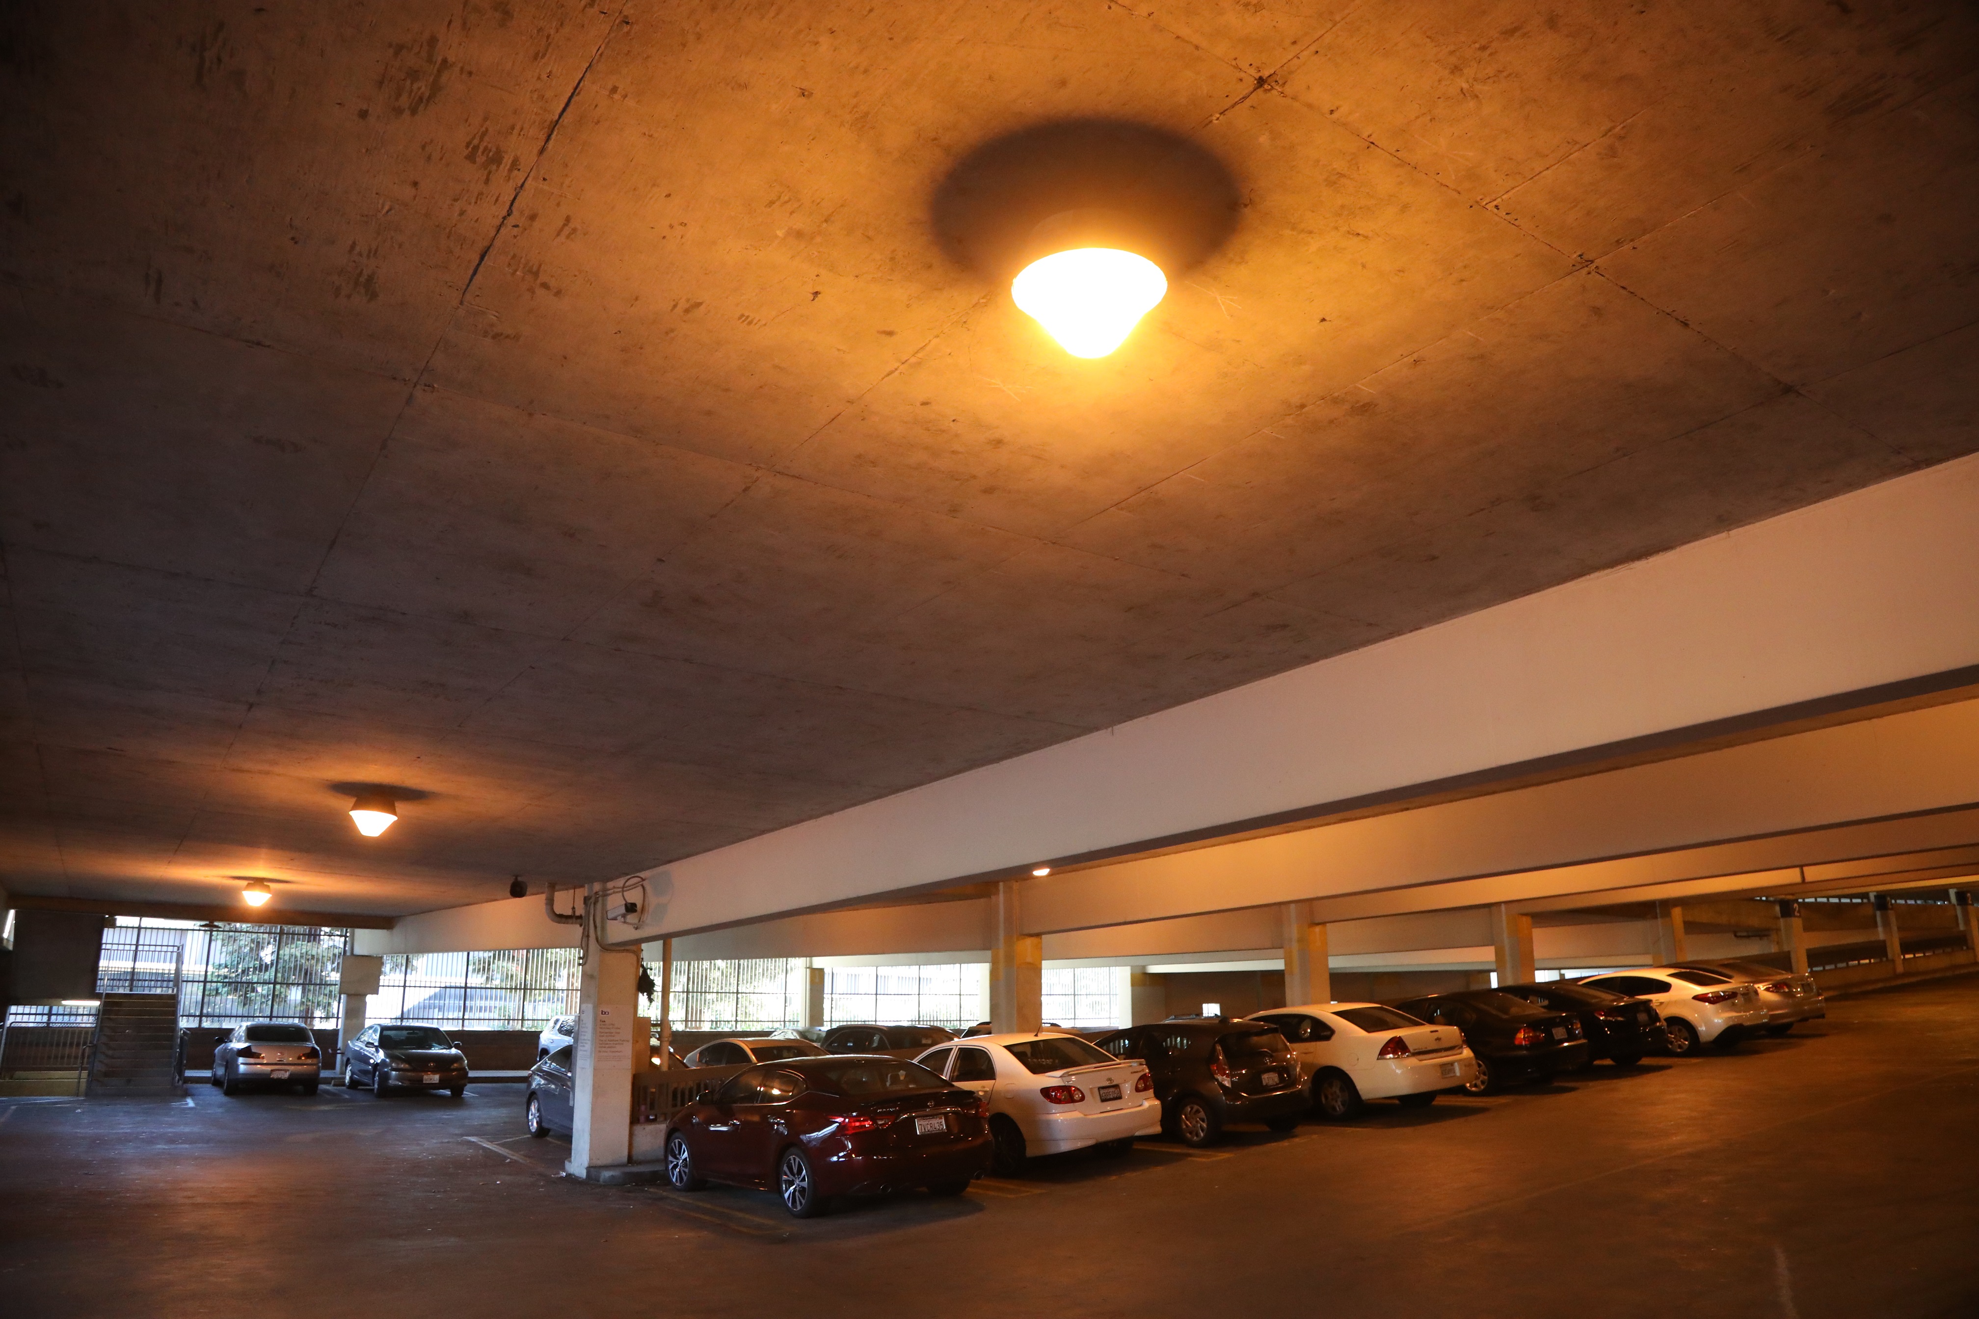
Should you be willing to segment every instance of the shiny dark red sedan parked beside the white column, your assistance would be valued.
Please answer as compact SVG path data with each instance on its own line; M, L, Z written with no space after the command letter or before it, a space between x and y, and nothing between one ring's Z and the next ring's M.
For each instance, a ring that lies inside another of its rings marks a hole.
M991 1151L984 1101L918 1062L792 1058L681 1109L667 1181L675 1190L708 1181L774 1188L796 1218L815 1218L837 1194L962 1194Z

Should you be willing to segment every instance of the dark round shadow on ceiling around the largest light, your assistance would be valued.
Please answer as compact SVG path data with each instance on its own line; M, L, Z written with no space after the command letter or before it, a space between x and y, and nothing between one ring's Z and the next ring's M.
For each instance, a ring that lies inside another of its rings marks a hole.
M1229 239L1241 206L1229 168L1185 136L1124 119L1059 119L972 150L928 210L952 261L1003 281L1037 255L1037 225L1065 212L1130 218L1140 255L1176 275Z

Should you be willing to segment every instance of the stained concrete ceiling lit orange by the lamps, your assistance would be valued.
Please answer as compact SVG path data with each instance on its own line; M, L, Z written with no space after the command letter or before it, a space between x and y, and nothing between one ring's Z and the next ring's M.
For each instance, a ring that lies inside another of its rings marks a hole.
M602 878L1979 447L1951 0L0 22L14 892ZM1100 362L930 227L1086 117L1241 192Z

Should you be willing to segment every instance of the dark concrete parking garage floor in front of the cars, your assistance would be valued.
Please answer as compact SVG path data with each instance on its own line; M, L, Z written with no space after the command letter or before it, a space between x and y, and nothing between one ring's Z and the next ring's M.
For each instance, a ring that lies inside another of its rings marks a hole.
M815 1224L558 1179L515 1086L190 1094L0 1103L0 1311L1979 1315L1979 977L1736 1054Z

